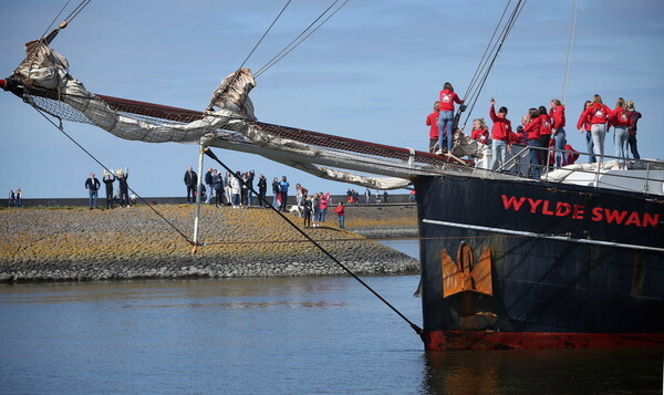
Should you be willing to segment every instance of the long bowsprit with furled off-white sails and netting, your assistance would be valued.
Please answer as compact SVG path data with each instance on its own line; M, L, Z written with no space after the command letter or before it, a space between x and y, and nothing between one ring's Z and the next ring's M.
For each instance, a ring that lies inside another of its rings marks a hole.
M415 175L454 170L449 157L258 122L249 98L256 81L248 69L226 76L205 112L95 95L49 46L52 35L25 45L27 58L4 89L61 119L90 123L124 139L253 153L322 178L376 189L403 188Z

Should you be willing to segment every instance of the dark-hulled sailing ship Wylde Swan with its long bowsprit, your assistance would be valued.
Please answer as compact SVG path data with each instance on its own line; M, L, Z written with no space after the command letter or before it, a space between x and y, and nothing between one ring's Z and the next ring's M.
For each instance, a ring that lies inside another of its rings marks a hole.
M531 179L455 152L268 124L253 114L256 81L241 67L204 112L93 94L49 45L63 28L28 43L0 87L125 139L242 150L376 189L414 185L426 350L664 344L664 164L606 160ZM464 155L486 153L457 138Z

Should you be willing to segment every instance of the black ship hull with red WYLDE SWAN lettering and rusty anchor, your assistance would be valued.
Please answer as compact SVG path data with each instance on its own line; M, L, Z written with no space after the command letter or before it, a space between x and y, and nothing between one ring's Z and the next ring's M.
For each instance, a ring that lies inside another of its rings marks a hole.
M664 345L664 199L415 181L427 350Z

